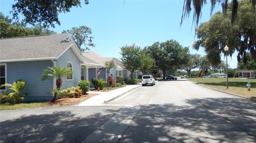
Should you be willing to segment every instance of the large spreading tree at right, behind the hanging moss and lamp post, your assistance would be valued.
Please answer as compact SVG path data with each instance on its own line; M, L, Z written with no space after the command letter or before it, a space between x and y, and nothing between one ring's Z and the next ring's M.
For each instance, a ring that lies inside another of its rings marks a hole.
M237 21L230 25L231 5L227 9L227 15L217 12L210 21L202 23L197 29L198 40L193 45L195 49L203 47L207 58L213 65L221 63L221 53L225 45L228 45L228 55L238 52L238 62L246 51L251 53L251 58L256 61L256 13L252 12L249 0L239 1Z

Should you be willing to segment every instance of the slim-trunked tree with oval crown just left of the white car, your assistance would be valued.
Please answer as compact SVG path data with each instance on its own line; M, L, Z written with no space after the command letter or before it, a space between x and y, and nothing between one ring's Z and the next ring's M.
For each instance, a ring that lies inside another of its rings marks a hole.
M130 46L125 45L121 47L121 61L124 67L129 70L130 73L130 81L133 83L133 75L136 70L140 68L141 63L141 48L132 44Z

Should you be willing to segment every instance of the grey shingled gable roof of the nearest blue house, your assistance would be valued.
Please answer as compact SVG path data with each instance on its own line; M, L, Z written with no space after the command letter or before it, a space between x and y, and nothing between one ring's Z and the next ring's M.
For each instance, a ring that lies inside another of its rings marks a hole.
M56 60L72 48L79 60L81 53L67 33L0 39L0 61Z

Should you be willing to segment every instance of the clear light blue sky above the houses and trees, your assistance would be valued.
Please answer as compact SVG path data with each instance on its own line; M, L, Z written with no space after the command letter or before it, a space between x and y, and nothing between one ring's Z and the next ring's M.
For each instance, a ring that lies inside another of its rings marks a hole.
M51 30L61 33L72 27L87 26L92 29L93 43L90 51L104 57L121 55L120 47L135 43L140 47L150 46L156 41L177 40L183 47L189 46L190 53L205 55L203 48L199 51L191 46L195 40L193 13L180 27L183 0L169 1L89 1L89 5L81 0L82 7L73 7L69 13L60 13L61 25ZM0 11L10 15L14 1L0 0ZM215 6L214 12L221 10ZM200 22L210 19L210 1L204 6ZM222 57L222 60L226 58ZM226 60L225 60L226 61ZM228 58L231 68L236 68L236 54Z

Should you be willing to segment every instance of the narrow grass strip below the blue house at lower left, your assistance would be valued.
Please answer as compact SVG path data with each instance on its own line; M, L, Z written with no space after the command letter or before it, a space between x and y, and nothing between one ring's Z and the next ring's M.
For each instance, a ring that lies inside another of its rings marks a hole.
M21 110L25 108L38 108L46 106L45 103L20 103L20 104L0 104L0 110Z

